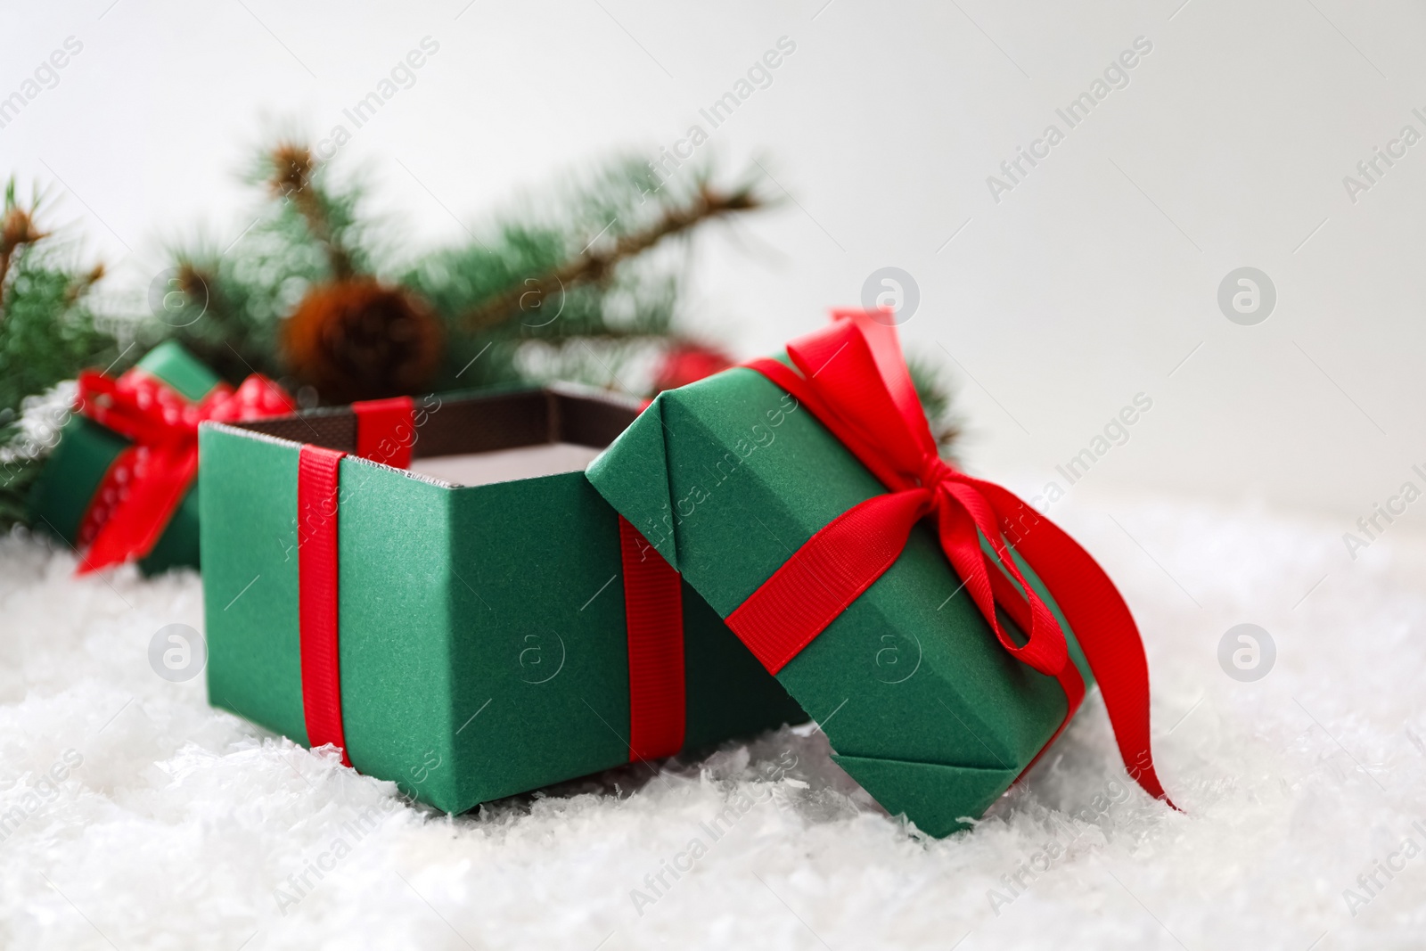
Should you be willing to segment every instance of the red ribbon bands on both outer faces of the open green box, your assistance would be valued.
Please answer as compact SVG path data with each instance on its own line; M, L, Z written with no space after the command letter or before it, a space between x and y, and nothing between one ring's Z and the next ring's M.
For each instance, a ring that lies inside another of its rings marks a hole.
M298 639L302 716L311 747L331 743L347 756L342 729L339 579L337 543L341 462L345 452L304 445L298 453ZM629 640L629 760L683 749L682 579L622 516L619 553Z

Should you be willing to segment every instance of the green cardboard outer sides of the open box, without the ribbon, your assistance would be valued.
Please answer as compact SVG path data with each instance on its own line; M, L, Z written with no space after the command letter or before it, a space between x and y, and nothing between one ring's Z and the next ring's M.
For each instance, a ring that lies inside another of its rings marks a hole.
M295 442L200 429L208 696L307 744ZM341 463L348 756L445 811L627 763L619 528L582 472L452 488ZM806 714L684 585L684 749Z

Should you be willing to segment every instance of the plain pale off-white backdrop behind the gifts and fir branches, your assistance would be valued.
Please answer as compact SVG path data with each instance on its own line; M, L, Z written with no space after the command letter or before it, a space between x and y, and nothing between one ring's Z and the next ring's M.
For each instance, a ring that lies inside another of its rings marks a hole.
M773 84L699 154L756 158L793 200L700 241L687 327L769 351L894 265L920 288L907 346L953 374L980 473L1065 485L1054 466L1144 392L1074 492L1255 500L1345 532L1422 483L1426 143L1355 204L1342 183L1402 125L1426 133L1419 6L823 3L7 3L0 96L66 37L84 47L0 130L0 170L53 185L54 215L143 291L165 244L227 245L251 220L237 173L257 144L351 128L341 110L429 36L416 84L338 161L409 247L463 241L523 188L709 128L699 107L786 36ZM1129 86L997 204L987 175L1141 36ZM1278 291L1256 327L1216 302L1242 265Z

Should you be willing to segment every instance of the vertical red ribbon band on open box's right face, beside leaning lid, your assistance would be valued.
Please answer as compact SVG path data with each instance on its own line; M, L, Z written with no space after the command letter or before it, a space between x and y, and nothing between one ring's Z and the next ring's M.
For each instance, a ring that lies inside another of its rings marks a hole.
M629 760L683 749L683 589L673 566L619 516L629 630Z

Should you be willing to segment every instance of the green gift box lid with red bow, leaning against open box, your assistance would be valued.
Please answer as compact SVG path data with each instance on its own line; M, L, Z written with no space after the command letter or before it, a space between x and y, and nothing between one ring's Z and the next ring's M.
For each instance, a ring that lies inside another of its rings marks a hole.
M588 475L893 814L934 836L981 816L1095 679L1162 796L1124 600L1048 519L940 459L886 314L660 394Z

